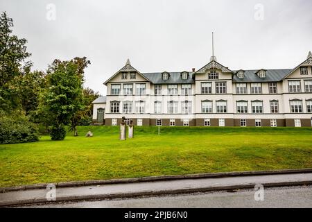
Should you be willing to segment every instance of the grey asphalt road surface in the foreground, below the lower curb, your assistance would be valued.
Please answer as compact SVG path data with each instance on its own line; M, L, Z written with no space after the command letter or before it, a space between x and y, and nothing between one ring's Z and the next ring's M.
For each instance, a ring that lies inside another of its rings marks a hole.
M312 186L268 188L263 201L254 200L254 190L242 190L24 207L312 207Z

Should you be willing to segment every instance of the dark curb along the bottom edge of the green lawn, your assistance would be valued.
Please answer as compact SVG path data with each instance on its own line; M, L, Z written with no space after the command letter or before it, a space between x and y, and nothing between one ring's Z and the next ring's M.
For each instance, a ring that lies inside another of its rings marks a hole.
M259 176L259 175L274 175L274 174L288 174L288 173L312 173L311 168L307 169L283 169L273 171L236 171L224 173L198 173L186 174L177 176L149 176L143 178L124 178L111 180L87 180L87 181L71 181L71 182L57 182L53 183L55 187L83 187L92 185L112 185L121 183L135 183L135 182L154 182L164 180L182 180L182 179L200 179L200 178L225 178L230 176ZM28 189L46 189L49 183L41 183L35 185L22 185L17 187L0 187L0 193L8 191L19 191Z

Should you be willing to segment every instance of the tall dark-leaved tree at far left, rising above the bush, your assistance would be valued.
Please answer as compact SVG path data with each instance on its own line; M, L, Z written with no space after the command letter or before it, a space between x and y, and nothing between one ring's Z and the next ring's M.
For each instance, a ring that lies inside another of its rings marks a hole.
M26 51L24 38L19 39L12 35L13 20L7 17L6 12L0 16L0 110L7 112L19 106L19 95L16 85L12 85L15 77L21 76L24 67L31 67L31 56Z

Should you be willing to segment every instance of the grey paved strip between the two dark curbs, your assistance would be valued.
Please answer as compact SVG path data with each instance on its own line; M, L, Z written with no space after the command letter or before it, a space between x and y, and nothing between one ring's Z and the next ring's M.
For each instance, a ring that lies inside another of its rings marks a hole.
M223 187L234 185L257 185L272 182L299 182L312 180L312 173L293 173L279 175L261 175L261 176L235 176L227 178L203 178L203 179L183 179L168 180L157 182L139 182L116 185L98 185L84 187L62 187L56 189L56 198L82 197L112 194L136 194L162 192L162 194L172 193L177 189L198 189L207 187ZM165 192L164 192L165 191ZM33 200L43 198L46 200L46 189L31 189L25 191L10 191L0 194L0 203L15 200ZM128 195L130 196L130 195Z

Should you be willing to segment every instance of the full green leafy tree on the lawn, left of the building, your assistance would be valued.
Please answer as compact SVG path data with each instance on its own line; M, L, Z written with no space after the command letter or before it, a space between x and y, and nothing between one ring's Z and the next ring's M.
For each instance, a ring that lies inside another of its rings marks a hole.
M76 130L76 115L83 110L83 70L90 62L87 58L70 61L54 60L47 71L46 89L40 99L40 110L49 114L51 139L62 140L64 126L71 124Z

